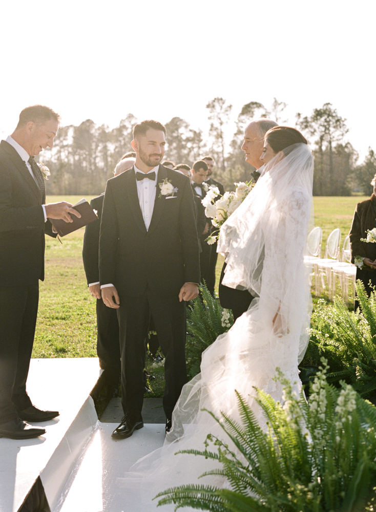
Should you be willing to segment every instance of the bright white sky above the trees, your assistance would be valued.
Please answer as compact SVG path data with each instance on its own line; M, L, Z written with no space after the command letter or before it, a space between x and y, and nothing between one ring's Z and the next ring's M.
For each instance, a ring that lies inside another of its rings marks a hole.
M213 98L234 121L245 103L276 97L291 125L332 103L363 160L376 151L375 14L374 0L8 1L0 135L35 103L63 125L178 116L206 135Z

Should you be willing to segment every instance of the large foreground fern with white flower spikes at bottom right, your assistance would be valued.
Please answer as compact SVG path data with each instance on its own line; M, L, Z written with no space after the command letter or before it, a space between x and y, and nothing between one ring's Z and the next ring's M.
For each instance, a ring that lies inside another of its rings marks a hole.
M208 435L204 450L181 452L218 461L221 468L202 477L220 475L223 487L170 488L156 496L158 504L215 512L373 510L376 408L344 382L341 390L333 388L323 362L311 383L308 403L281 377L283 406L258 391L268 432L238 395L241 424L224 414L221 421L215 418L227 442Z

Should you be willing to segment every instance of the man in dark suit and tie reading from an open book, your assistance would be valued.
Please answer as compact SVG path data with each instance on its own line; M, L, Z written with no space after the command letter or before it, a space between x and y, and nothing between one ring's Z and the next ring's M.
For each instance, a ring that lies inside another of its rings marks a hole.
M47 106L27 107L15 131L0 143L0 437L11 439L44 434L26 422L59 414L37 409L26 392L38 280L45 276L45 233L56 236L49 219L80 217L70 203L45 204L45 182L34 160L53 146L59 120Z

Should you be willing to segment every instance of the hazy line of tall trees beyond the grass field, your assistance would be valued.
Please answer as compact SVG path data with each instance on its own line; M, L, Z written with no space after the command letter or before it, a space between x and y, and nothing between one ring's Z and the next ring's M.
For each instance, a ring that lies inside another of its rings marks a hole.
M235 122L233 138L227 144L225 134L232 105L223 98L214 98L206 105L210 120L207 134L201 129L193 130L189 122L180 117L165 123L164 159L192 165L209 154L216 162L215 178L223 183L225 190L233 190L234 182L248 181L254 170L245 163L241 150L244 127L259 117L286 124L283 119L286 106L276 98L269 109L256 101L246 103ZM132 130L137 122L133 114L128 114L113 129L105 124L97 126L91 119L79 126L60 127L54 147L47 148L41 158L51 170L48 194L99 194L105 190L118 160L132 151ZM348 133L346 119L340 117L330 103L314 109L309 116L298 113L296 127L308 139L315 155L314 195L371 194L369 183L376 173L376 156L369 148L365 161L357 164L358 153L344 141Z

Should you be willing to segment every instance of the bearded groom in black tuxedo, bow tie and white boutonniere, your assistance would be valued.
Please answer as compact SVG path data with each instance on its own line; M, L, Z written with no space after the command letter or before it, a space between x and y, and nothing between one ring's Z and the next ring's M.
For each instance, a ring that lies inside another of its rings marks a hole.
M142 121L133 130L136 162L107 182L99 240L103 302L118 312L124 417L113 432L142 428L145 338L153 318L165 356L166 431L186 382L185 302L198 295L199 245L190 180L160 165L165 127Z

